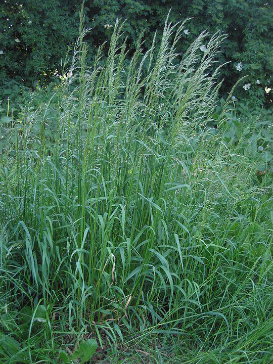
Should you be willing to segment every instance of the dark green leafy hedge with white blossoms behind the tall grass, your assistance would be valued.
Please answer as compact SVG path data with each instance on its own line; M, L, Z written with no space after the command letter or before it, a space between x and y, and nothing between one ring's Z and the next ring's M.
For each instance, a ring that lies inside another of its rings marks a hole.
M74 43L79 21L78 0L3 0L0 5L0 97L15 97L22 87L48 84L62 74L68 44ZM236 97L252 104L269 103L264 87L272 85L273 7L261 0L86 0L85 26L92 28L86 37L87 63L95 59L99 44L108 40L116 18L127 19L124 36L129 56L136 48L140 32L146 29L143 47L148 50L156 30L163 29L170 8L173 23L193 18L177 43L184 53L205 29L210 34L229 34L222 44L219 62L225 78L220 90L226 95L237 80L247 75L250 88L236 91ZM158 45L158 42L156 42ZM73 48L73 47L72 47ZM107 47L102 55L107 55ZM272 95L272 94L271 94ZM271 97L272 98L272 97Z

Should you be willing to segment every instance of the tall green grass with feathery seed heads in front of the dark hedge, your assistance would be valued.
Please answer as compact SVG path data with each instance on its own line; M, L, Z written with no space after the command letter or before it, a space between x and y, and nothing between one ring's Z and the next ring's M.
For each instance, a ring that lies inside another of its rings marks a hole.
M19 345L0 357L55 362L57 343L93 337L155 362L268 363L271 190L215 122L225 36L182 55L185 23L167 19L128 63L122 26L93 67L81 26L60 87L0 156L1 338Z

